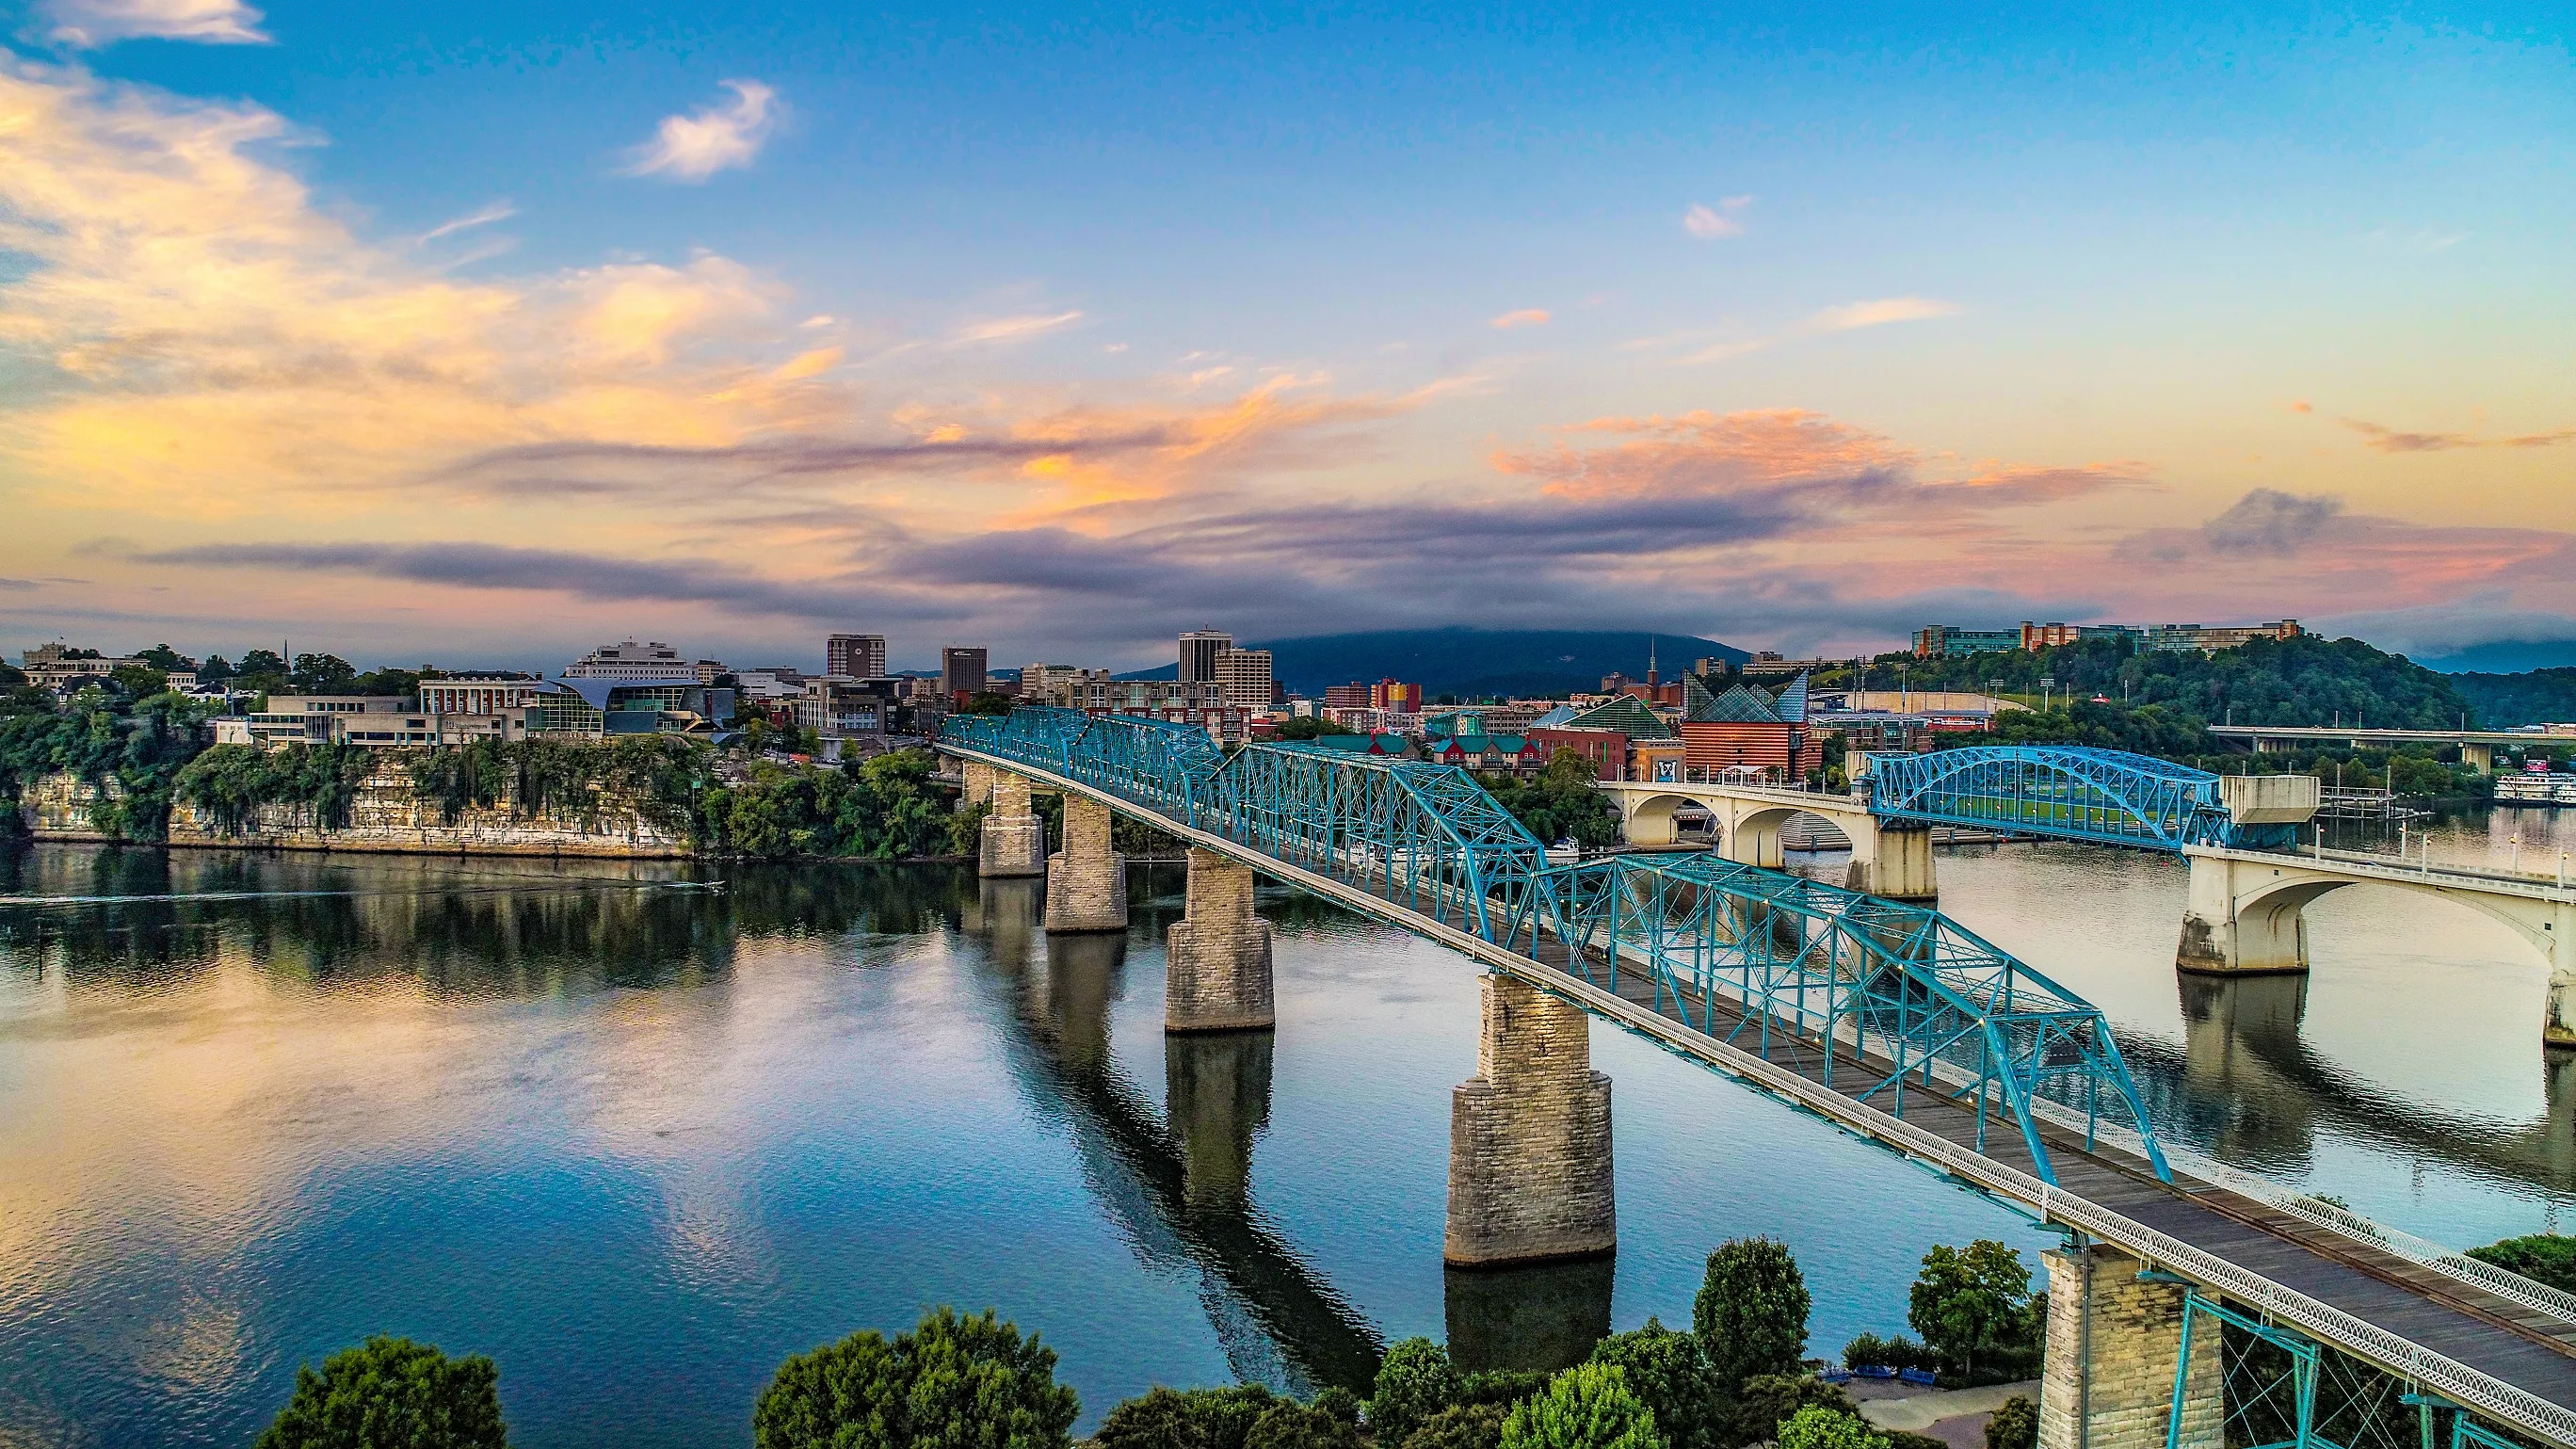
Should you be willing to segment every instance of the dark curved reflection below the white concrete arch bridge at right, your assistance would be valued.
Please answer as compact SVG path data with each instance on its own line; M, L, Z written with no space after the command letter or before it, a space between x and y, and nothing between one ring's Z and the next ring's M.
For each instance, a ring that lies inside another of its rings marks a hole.
M2306 975L2177 972L2184 1042L2120 1031L2138 1091L2177 1140L2251 1171L2303 1171L2316 1134L2344 1132L2455 1168L2576 1191L2576 1057L2540 1062L2545 1111L2512 1124L2439 1111L2372 1085L2300 1042Z

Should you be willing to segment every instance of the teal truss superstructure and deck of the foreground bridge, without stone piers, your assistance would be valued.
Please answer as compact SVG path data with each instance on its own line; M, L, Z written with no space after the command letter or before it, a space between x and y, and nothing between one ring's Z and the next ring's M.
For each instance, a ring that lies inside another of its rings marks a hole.
M951 717L938 748L1453 946L2125 1253L2195 1312L2262 1323L2298 1372L2367 1364L2455 1426L2576 1449L2576 1299L2169 1155L2102 1013L1927 905L1705 853L1551 864L1453 766L1221 753L1069 709ZM2300 1408L2295 1441L2367 1436Z

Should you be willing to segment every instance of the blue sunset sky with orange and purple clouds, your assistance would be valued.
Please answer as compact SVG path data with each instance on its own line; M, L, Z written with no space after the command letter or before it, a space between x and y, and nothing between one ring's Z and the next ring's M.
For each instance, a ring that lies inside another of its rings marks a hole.
M0 5L0 652L2576 663L2563 5Z

